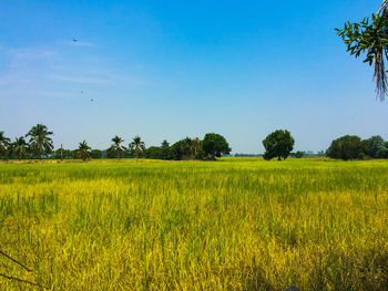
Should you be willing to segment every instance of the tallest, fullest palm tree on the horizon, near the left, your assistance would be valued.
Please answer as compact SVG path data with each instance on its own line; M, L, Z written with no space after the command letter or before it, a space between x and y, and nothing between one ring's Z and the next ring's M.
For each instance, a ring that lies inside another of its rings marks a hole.
M52 132L48 131L48 127L43 124L37 124L32 126L27 136L30 136L30 147L31 150L39 156L42 160L43 154L50 154L53 149L53 144L50 135Z

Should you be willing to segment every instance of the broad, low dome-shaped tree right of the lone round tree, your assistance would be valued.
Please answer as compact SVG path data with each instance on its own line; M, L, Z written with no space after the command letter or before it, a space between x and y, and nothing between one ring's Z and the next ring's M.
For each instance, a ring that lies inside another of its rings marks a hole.
M358 159L366 155L366 144L356 135L345 135L331 142L327 156L340 159Z

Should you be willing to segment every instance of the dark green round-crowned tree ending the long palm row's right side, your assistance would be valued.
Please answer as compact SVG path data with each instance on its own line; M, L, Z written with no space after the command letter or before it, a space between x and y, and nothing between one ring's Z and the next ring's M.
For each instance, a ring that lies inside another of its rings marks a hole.
M219 134L206 134L202 142L202 149L206 158L215 159L221 155L228 155L232 150L225 137Z

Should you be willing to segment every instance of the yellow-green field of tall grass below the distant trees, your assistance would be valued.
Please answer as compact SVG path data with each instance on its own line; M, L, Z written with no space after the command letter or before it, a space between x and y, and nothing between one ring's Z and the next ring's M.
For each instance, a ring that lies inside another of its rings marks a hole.
M0 227L52 290L388 290L388 163L0 164Z

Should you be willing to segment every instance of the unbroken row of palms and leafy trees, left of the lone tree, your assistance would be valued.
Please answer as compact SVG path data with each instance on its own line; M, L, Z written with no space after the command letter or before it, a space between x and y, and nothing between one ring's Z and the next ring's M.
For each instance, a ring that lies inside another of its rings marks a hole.
M145 147L140 136L135 136L129 144L120 136L114 136L111 146L104 150L91 148L86 141L79 143L76 149L65 149L62 146L54 150L53 133L43 124L32 126L24 136L16 137L13 142L4 132L0 131L0 158L154 158L154 159L215 159L222 155L228 155L232 150L225 137L208 133L203 139L183 138L172 145L163 141L160 146Z

